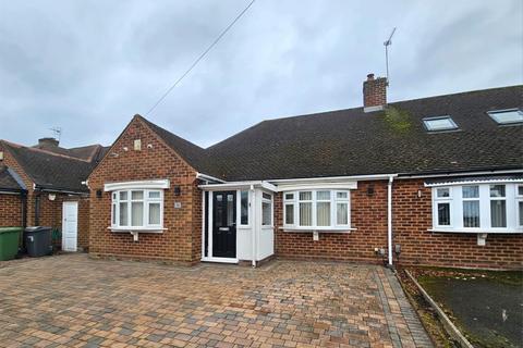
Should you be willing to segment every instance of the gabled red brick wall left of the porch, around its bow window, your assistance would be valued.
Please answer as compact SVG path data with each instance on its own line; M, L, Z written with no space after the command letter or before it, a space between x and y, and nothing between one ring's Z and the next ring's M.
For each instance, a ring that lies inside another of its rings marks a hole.
M133 149L135 139L142 140L141 151ZM199 260L202 196L197 192L195 176L195 171L188 164L139 119L134 119L89 177L89 252L100 257L186 263ZM108 229L111 222L111 194L104 192L101 198L96 197L97 190L104 190L105 183L163 178L171 184L163 195L163 227L167 228L163 233L141 233L138 241L133 241L130 233ZM181 188L180 196L174 195L175 186ZM182 208L175 209L174 202L181 202Z

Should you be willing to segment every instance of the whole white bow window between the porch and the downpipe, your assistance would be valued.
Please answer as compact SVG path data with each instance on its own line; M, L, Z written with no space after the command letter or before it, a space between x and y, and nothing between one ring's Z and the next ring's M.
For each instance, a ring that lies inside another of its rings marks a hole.
M348 190L303 190L283 194L283 224L299 229L350 227Z

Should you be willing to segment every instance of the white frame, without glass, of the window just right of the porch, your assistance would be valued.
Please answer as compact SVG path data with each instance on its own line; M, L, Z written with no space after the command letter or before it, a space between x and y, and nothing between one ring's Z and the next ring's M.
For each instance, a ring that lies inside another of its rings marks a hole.
M330 225L329 226L318 226L317 225L317 203L327 202L327 200L318 200L318 191L329 191L330 192ZM300 200L300 192L311 192L311 200ZM346 198L338 198L338 192L346 192ZM292 199L288 199L287 195L294 195ZM300 225L300 203L312 203L312 225L304 226ZM346 203L346 225L338 224L338 203ZM287 206L292 204L294 207L293 224L287 223ZM292 191L283 191L283 228L293 231L350 231L351 228L351 191L349 189L300 189Z

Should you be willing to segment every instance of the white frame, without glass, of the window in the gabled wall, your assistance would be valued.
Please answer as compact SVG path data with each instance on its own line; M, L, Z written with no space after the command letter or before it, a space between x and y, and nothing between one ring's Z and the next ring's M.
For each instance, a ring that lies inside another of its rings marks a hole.
M142 191L143 199L136 200L132 199L133 191ZM127 202L127 224L120 225L120 194L126 192L127 199L124 200ZM159 192L158 198L149 198L149 192ZM141 226L132 226L132 202L143 202L143 224ZM160 223L159 224L149 224L149 206L150 204L160 204ZM162 189L139 189L139 188L130 188L130 189L120 189L111 192L111 229L113 231L155 231L161 232L163 228L163 190Z

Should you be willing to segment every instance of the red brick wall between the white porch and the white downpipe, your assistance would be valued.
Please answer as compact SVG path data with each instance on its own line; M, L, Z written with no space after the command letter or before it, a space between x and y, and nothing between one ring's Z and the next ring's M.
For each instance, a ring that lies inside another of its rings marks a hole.
M368 194L372 186L374 194ZM360 182L351 191L351 233L284 232L281 194L275 200L276 254L290 259L343 260L377 263L374 248L387 247L387 182Z

